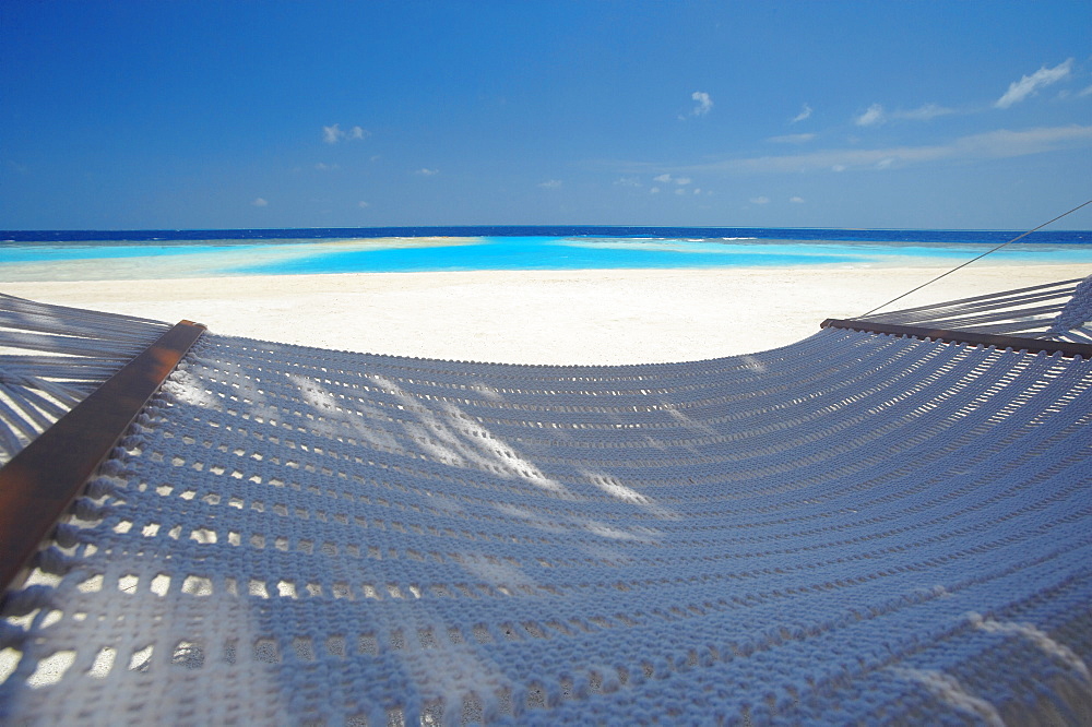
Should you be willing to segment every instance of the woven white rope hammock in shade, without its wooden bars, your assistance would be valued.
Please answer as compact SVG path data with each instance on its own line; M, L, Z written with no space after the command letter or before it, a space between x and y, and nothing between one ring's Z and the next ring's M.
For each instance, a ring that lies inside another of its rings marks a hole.
M609 367L204 333L8 593L0 722L1088 724L1077 284L1006 303L1053 354L854 330L922 311ZM5 421L56 418L16 360Z

